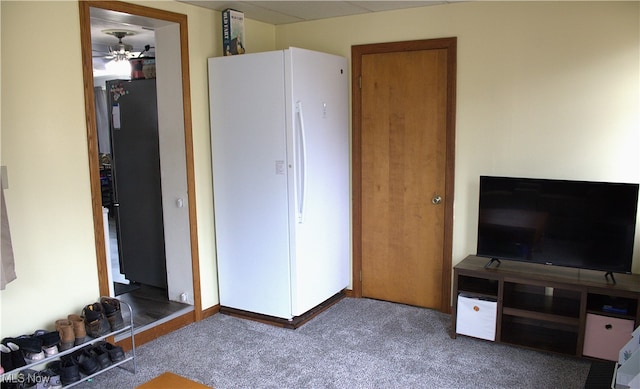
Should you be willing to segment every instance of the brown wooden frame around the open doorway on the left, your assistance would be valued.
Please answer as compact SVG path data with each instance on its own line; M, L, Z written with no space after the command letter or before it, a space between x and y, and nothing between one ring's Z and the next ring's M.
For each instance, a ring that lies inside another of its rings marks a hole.
M182 325L203 318L202 299L200 289L200 261L198 253L198 230L196 218L195 199L195 174L193 159L193 134L191 119L191 86L189 76L189 38L187 16L174 12L149 8L145 6L124 3L120 1L79 1L80 13L80 42L82 49L82 73L84 79L84 107L85 120L87 126L87 147L89 158L89 177L91 185L91 206L93 210L93 229L96 247L96 259L98 266L99 292L101 296L109 294L108 269L106 264L106 242L104 222L102 216L102 195L100 187L100 167L98 161L98 133L96 125L96 110L93 91L93 61L91 47L91 8L101 8L105 10L117 11L131 15L143 16L153 19L165 20L177 23L180 27L180 57L182 68L182 109L184 116L184 137L186 155L186 176L187 176L187 204L189 210L189 234L191 244L191 266L193 279L193 300L194 310L186 318L180 320L173 326L167 324L169 328L178 328ZM154 331L153 339L158 336L158 331Z

